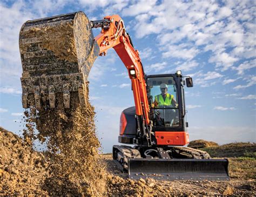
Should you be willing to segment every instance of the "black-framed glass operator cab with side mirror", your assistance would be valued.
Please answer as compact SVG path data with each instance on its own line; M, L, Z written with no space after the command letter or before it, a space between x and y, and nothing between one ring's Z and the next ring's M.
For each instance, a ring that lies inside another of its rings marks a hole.
M186 81L188 87L193 86L192 78ZM181 72L146 76L146 83L153 131L185 131L185 84Z

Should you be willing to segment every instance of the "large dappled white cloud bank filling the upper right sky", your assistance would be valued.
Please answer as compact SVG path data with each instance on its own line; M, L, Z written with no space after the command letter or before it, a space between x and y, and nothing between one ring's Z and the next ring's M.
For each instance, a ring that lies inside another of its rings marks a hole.
M254 8L250 1L234 4L162 1L144 11L136 3L126 15L136 16L133 29L138 38L158 34L164 58L193 59L210 51L208 62L226 71L239 60L255 57ZM181 47L182 42L191 46Z

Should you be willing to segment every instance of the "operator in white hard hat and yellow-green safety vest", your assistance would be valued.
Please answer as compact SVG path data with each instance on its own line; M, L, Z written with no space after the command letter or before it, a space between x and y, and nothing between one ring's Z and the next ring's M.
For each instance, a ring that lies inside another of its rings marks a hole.
M158 94L157 96L154 97L155 107L171 106L171 105L173 107L177 107L177 102L173 98L173 95L167 93L167 87L168 86L164 83L160 85L161 94Z

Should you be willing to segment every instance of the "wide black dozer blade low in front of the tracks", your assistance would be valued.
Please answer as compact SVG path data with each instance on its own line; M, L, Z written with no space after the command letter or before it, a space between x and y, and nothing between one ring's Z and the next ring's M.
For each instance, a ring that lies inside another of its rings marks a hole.
M227 159L129 159L130 179L228 181Z

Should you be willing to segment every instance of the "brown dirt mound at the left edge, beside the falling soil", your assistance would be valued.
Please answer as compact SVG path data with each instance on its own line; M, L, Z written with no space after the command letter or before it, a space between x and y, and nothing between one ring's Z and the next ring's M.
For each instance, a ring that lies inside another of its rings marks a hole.
M0 127L0 195L46 194L41 189L48 162L22 138Z

